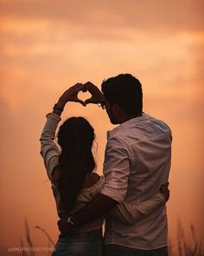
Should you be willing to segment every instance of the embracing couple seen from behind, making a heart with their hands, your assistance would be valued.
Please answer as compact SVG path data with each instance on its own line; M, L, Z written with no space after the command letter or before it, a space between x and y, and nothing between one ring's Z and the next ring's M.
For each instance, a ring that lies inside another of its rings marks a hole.
M67 89L41 134L41 156L60 217L61 234L52 255L166 256L171 131L143 113L142 85L134 76L109 78L101 90L91 82ZM92 97L82 102L80 91ZM68 118L59 129L58 144L54 141L67 102L98 104L118 124L108 132L104 176L94 172L95 135L85 118Z

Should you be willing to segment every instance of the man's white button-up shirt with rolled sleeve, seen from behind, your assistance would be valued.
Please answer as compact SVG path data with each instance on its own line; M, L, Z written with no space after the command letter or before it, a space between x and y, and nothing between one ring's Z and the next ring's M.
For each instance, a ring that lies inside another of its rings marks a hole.
M105 150L105 187L101 193L134 204L150 199L168 181L171 140L169 127L146 114L113 129ZM166 246L165 207L158 208L134 225L125 225L108 217L105 244L144 250Z

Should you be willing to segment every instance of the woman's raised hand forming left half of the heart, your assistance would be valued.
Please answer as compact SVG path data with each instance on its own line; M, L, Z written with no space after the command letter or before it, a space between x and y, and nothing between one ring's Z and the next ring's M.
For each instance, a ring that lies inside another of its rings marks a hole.
M67 102L79 102L80 104L82 104L83 106L85 106L85 102L81 101L78 98L78 93L80 91L84 91L85 90L85 86L78 82L75 85L73 85L72 87L70 87L69 89L67 89L60 97L59 101L57 102L57 104L59 106L61 106L61 108L64 108L64 106L66 105Z

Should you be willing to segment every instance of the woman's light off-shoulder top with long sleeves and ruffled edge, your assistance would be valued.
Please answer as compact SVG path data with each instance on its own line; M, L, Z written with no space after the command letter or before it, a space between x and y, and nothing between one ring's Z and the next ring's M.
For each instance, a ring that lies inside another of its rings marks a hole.
M61 116L56 115L54 113L49 113L46 115L47 121L41 133L41 156L44 161L44 165L47 170L48 179L51 181L52 190L54 194L54 199L56 202L57 213L59 217L68 215L65 213L63 208L61 207L61 196L58 188L58 182L53 180L53 174L56 167L59 166L59 155L60 148L58 144L54 141L55 132L58 126L58 123L61 121ZM78 212L81 208L85 207L87 202L92 200L97 194L99 194L100 190L104 185L104 177L101 176L99 181L97 181L92 187L81 188L80 193L77 196L77 200L73 207L72 213ZM143 202L139 202L137 205L131 205L130 203L126 203L125 201L119 204L117 207L112 209L111 215L114 216L119 221L125 222L127 224L131 224L136 222L140 217L148 214L157 207L165 204L165 198L163 194L156 194L150 200L145 200ZM101 228L105 216L102 216L96 220L92 220L88 224L82 226L80 228L80 232L87 232L94 229Z

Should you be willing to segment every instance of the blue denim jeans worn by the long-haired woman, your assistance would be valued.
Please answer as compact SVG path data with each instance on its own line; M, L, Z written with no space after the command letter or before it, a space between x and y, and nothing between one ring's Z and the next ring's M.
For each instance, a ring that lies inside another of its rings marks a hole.
M52 256L103 256L101 230L94 230L73 236L59 237Z

